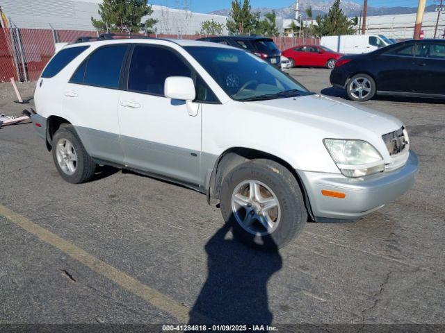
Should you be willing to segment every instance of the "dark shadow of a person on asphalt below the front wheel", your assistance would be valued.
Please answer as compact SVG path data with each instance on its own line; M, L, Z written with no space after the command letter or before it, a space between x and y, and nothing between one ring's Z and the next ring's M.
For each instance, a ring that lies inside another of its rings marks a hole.
M264 252L227 239L230 229L220 228L205 246L208 278L191 310L191 325L268 325L273 321L267 283L282 268L282 257L275 243Z

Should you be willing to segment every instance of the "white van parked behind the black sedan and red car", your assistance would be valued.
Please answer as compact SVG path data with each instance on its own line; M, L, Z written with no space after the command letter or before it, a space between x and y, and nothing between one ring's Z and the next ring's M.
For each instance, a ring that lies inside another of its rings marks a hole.
M320 44L345 54L368 53L391 45L384 35L342 35L321 37Z

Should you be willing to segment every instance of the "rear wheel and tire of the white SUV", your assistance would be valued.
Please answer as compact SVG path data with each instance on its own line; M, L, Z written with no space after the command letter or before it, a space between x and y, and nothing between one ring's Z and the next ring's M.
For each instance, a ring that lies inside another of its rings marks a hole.
M96 164L86 152L73 126L60 127L51 145L54 164L64 180L81 184L94 176Z

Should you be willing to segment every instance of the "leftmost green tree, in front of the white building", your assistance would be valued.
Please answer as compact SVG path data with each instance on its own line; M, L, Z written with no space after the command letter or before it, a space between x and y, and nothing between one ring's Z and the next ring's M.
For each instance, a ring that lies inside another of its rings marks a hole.
M98 31L139 33L143 30L149 33L158 22L147 19L141 23L144 16L153 13L146 0L104 0L99 4L98 13L101 19L91 17L91 23Z

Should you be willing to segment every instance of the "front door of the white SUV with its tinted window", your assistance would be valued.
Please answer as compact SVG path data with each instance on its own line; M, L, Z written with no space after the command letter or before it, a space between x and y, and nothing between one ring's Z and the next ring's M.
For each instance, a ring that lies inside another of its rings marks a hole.
M124 164L191 185L200 183L201 114L188 108L200 103L164 96L169 76L192 77L192 70L177 51L147 44L133 46L127 91L119 102Z

